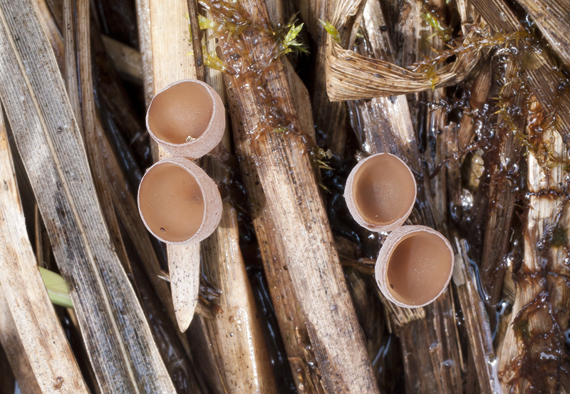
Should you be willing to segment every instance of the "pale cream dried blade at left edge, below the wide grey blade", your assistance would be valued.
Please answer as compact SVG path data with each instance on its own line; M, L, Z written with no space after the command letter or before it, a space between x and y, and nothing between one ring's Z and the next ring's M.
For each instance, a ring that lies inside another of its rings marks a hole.
M37 383L46 393L88 393L28 239L2 117L0 182L0 283Z

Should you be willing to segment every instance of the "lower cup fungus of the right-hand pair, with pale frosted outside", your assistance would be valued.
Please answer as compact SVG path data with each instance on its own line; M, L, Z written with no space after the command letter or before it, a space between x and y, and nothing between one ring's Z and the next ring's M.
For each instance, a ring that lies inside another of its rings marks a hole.
M403 226L386 238L375 276L387 299L404 308L419 308L443 293L453 264L453 249L442 234L430 227Z

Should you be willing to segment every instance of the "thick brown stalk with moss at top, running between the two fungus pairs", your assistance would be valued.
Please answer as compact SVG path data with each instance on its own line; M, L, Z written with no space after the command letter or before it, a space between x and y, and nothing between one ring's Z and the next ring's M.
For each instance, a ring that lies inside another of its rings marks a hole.
M268 25L263 3L243 1L241 5L254 26ZM209 11L214 19L220 18L213 7ZM254 26L237 36L240 46L232 37L220 37L221 58L230 69L239 67L239 58L252 58L254 66L269 61L273 38ZM279 264L279 269L286 266L291 275L324 386L331 393L377 393L284 66L272 61L259 73L224 75L224 81L234 141L244 177L249 179L247 191L254 204L266 204L269 210L274 227L264 230L277 234L275 247L281 252L273 264ZM275 111L279 118L274 121ZM277 133L274 129L281 119L286 120L283 126L288 131ZM252 180L260 183L264 195L254 194L260 190L249 187ZM266 238L260 232L257 235L264 248Z

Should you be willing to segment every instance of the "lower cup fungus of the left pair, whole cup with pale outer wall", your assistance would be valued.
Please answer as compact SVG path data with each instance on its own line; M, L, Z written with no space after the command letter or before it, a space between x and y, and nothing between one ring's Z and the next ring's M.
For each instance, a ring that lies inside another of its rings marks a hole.
M152 165L138 189L142 222L167 244L200 242L222 218L222 199L206 172L184 157Z

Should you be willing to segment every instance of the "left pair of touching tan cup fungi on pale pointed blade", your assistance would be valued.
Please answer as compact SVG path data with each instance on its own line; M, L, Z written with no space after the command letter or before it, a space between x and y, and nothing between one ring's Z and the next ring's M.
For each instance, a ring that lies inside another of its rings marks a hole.
M152 99L147 130L172 157L156 162L142 177L138 208L142 222L167 244L200 242L222 218L216 182L192 160L206 155L222 140L224 103L207 83L182 80Z

